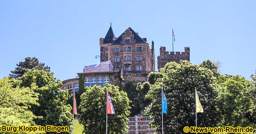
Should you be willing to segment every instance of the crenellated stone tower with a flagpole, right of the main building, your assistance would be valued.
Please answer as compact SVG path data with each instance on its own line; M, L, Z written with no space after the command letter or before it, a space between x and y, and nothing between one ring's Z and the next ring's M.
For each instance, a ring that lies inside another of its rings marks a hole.
M176 62L180 63L180 60L190 60L190 49L189 47L184 48L184 52L168 52L165 47L160 48L160 56L157 56L158 71L165 66L166 63Z

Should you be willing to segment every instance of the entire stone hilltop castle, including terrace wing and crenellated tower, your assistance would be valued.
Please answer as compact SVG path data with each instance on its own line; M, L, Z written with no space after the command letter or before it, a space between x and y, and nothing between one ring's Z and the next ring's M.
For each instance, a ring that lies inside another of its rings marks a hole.
M104 38L100 38L100 64L85 66L78 78L64 80L61 89L73 90L86 86L105 83L124 85L127 82L147 81L148 73L155 71L154 41L151 49L147 38L141 38L138 32L127 28L119 37L115 37L112 26ZM158 71L168 62L179 63L180 60L190 60L190 49L184 52L168 52L165 47L160 48L157 57Z

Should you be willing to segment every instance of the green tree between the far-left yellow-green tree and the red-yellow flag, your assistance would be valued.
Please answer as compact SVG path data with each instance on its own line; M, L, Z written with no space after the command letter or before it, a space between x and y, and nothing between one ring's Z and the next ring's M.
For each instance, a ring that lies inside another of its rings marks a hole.
M34 91L39 93L39 106L31 106L33 113L39 117L34 119L37 125L72 125L72 107L67 104L68 91L60 89L62 82L55 80L53 73L28 69L19 79L22 81L21 86L37 86Z

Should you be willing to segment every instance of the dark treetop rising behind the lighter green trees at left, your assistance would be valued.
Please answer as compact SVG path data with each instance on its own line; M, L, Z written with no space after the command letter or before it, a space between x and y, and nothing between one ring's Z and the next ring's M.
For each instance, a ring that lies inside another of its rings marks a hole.
M12 74L9 74L10 78L19 78L27 72L28 69L37 69L50 72L50 67L44 65L44 63L39 63L38 59L33 57L25 58L25 61L21 61L19 64L16 64L17 67L15 70L11 71Z

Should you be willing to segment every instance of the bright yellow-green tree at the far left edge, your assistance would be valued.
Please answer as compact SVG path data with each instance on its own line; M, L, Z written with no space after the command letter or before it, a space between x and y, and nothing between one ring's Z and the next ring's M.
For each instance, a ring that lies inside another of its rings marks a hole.
M20 87L20 81L7 77L0 80L0 124L8 126L35 125L36 118L29 110L31 104L38 105L35 85Z

